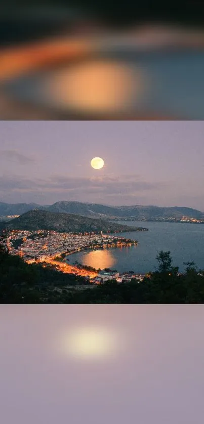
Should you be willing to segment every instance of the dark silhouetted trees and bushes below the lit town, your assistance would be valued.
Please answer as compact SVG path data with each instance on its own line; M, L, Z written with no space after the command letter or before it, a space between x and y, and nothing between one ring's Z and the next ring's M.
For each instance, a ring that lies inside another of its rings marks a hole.
M170 252L159 252L158 269L143 282L107 281L93 286L83 277L67 275L26 264L11 256L0 243L0 302L49 304L175 304L204 303L204 271L186 264L186 273L178 275L172 267Z

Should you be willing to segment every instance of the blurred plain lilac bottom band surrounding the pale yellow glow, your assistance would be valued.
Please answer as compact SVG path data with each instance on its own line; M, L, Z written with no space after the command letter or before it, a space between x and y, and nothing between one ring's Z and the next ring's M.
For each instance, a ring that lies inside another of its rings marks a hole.
M201 424L203 305L2 305L4 424ZM124 351L56 354L59 334L95 323Z

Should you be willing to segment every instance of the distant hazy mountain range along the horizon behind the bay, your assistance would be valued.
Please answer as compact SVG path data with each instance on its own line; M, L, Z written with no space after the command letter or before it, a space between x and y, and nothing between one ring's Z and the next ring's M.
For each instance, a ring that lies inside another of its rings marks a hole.
M106 206L97 203L82 203L76 201L59 201L52 205L36 203L3 203L0 202L0 216L22 215L29 210L40 209L61 214L74 214L89 218L102 219L159 219L159 218L203 218L204 213L191 207L173 206Z

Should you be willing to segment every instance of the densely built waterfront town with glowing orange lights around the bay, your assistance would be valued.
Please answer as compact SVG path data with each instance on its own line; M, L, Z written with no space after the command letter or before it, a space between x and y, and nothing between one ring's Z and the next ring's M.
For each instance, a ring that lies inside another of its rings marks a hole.
M123 248L137 245L136 240L125 237L116 237L107 234L73 234L56 231L38 230L11 230L7 233L5 244L11 255L21 256L25 262L42 263L43 266L52 265L55 269L84 277L87 281L98 284L109 279L117 282L128 282L135 278L142 281L144 275L133 271L119 274L116 270L96 270L83 267L81 264L70 265L68 256L87 249Z

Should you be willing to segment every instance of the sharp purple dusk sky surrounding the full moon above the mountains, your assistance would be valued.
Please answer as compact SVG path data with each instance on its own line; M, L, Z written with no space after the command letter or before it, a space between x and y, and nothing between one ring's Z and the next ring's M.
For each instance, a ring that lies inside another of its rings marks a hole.
M204 211L203 134L204 121L1 121L0 201Z

